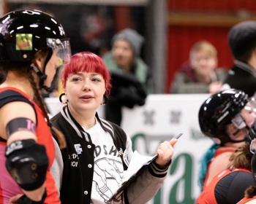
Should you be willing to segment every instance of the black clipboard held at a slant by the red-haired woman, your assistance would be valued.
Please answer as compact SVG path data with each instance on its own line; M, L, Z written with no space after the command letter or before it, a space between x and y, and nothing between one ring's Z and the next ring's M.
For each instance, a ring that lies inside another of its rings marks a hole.
M158 154L155 154L151 158L151 160L148 160L148 162L144 163L136 173L134 173L132 176L129 177L127 181L124 181L124 183L121 184L121 187L118 188L116 193L110 198L110 200L108 200L108 203L111 203L112 200L116 200L117 197L119 197L118 195L120 195L120 193L123 192L124 189L127 189L129 185L132 184L132 182L135 181L138 178L138 176L140 176L140 174L143 173L144 170L146 170L146 168L148 168L148 165L150 165L151 162L156 160L157 157L158 157Z

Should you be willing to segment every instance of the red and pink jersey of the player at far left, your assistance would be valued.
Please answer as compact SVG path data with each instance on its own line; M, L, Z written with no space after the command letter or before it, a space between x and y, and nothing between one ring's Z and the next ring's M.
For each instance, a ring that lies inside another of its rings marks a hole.
M29 95L26 95L26 93L23 93L22 91L13 87L0 88L0 93L3 92L4 90L14 90L20 93L21 95L23 95L25 98L29 99L29 101L31 101L31 103L34 104L34 109L37 113L37 128L36 128L37 143L45 146L48 159L49 159L48 171L46 173L46 180L45 180L45 188L47 192L45 203L59 204L61 202L59 200L58 190L56 188L53 176L50 173L50 166L53 164L53 160L55 158L55 148L53 144L53 138L50 133L50 128L48 127L47 122L45 122L44 114L42 113L42 110L39 109L39 106L37 106L37 103L34 103L34 101L31 98L29 98ZM10 176L10 173L5 168L6 158L4 154L5 154L6 146L7 146L7 141L4 141L4 139L1 139L0 141L0 166L1 166L0 168L0 204L2 203L6 204L10 199L10 197L13 197L20 193L23 194L18 184L16 184L14 179Z

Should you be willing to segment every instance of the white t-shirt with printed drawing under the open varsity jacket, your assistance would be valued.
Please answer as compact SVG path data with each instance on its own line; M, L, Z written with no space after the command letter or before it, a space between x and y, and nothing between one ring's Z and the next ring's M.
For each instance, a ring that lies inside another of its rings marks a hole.
M89 133L91 141L95 145L91 202L108 203L110 197L121 187L124 179L124 166L121 157L127 155L127 151L126 149L117 149L110 133L105 132L98 122L86 132ZM121 204L123 202L120 198L114 203Z

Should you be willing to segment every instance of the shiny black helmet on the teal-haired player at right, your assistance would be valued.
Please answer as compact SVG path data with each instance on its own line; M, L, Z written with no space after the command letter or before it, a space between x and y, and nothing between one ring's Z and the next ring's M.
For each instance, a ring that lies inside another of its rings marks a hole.
M248 96L241 90L223 90L211 95L199 110L198 119L201 131L217 144L231 141L225 133L225 125L232 123L233 118L248 101Z

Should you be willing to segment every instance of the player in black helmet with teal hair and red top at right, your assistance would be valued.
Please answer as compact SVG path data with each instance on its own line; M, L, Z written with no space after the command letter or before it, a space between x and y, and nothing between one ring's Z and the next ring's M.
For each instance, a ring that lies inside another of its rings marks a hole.
M230 155L246 143L249 127L256 119L253 100L241 90L223 90L211 95L200 106L200 130L214 141L201 160L201 189L205 189L217 173L227 168Z

